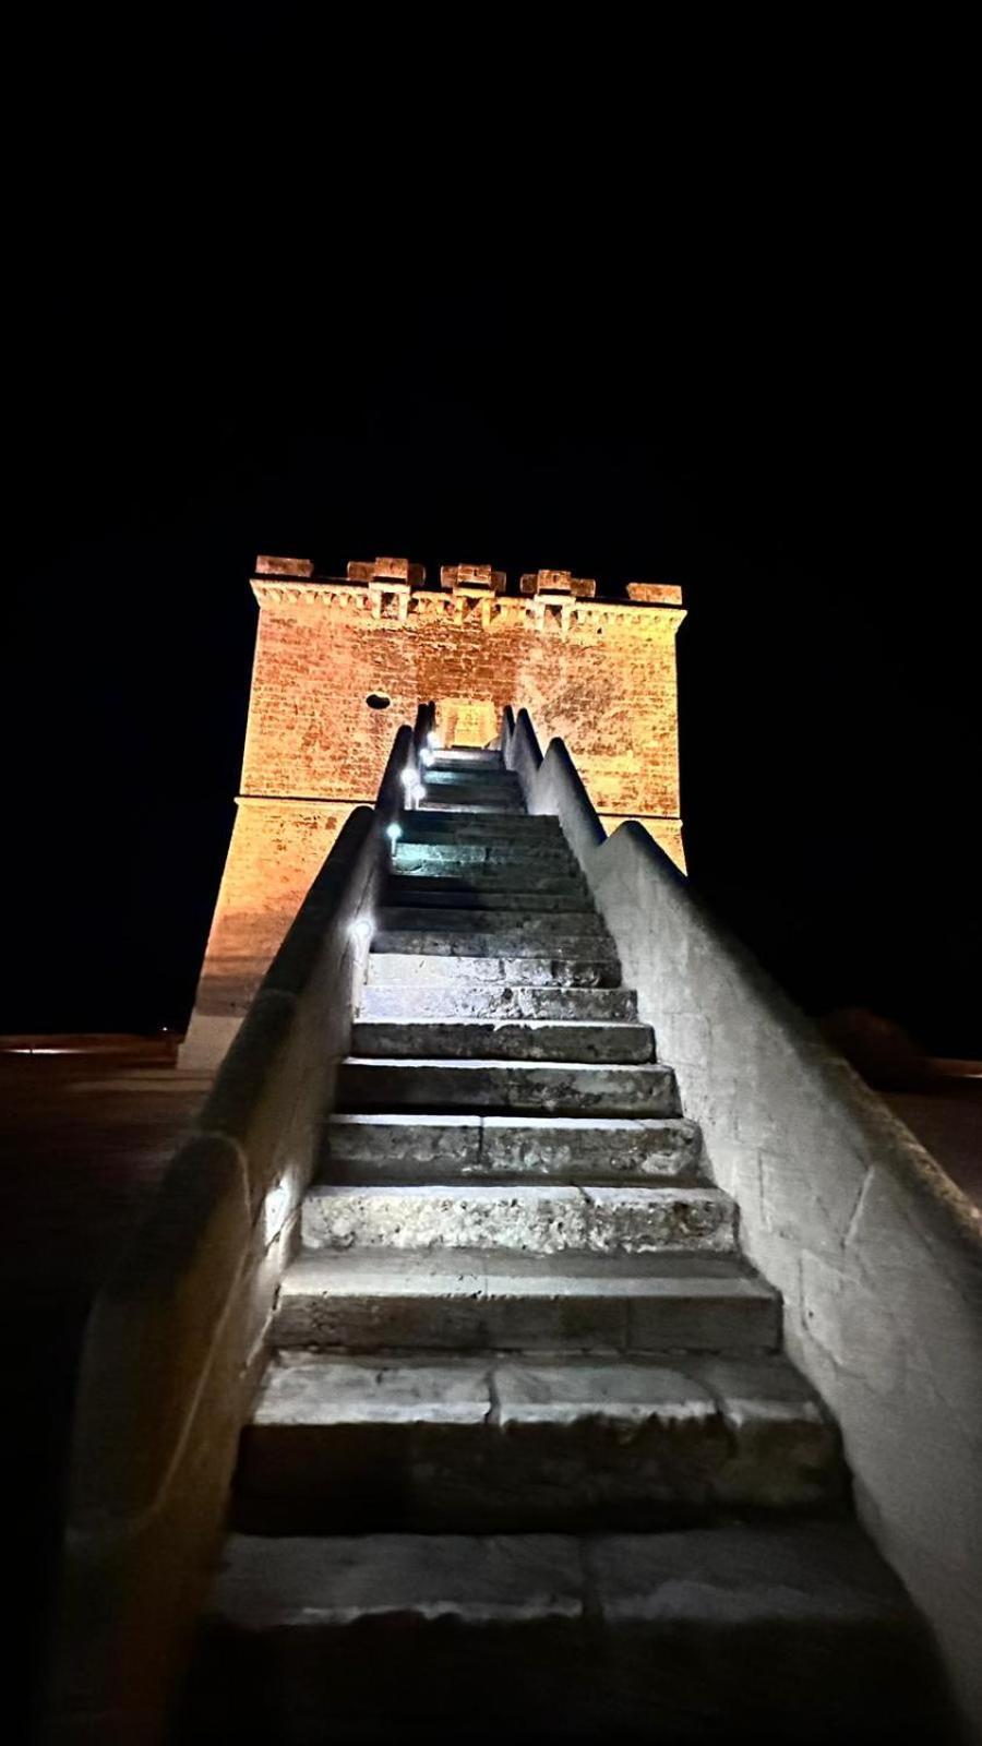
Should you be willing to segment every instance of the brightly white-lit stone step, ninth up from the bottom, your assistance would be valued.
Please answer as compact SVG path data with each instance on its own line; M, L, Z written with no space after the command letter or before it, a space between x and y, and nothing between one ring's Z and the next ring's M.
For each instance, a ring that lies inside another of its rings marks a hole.
M412 952L407 939L428 936L376 934L365 971L367 988L451 988L489 983L526 988L612 988L620 983L620 964L610 952L598 952L596 939L580 941L568 959L500 957L496 952ZM461 941L461 946L467 941Z

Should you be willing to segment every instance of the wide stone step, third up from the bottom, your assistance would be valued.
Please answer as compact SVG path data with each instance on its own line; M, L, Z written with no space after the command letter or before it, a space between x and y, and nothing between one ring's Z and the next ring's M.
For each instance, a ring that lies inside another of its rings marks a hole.
M774 1351L781 1299L730 1255L304 1250L278 1346Z

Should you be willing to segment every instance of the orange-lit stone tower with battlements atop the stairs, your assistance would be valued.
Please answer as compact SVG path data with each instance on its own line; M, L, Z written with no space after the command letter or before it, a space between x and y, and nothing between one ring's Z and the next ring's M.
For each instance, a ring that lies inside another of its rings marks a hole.
M446 746L484 746L505 704L561 735L608 829L638 819L681 866L674 634L681 590L545 569L507 578L376 559L348 576L260 557L238 815L192 1035L229 1030L348 814L372 805L402 721L435 700ZM203 1025L203 1020L224 1020Z

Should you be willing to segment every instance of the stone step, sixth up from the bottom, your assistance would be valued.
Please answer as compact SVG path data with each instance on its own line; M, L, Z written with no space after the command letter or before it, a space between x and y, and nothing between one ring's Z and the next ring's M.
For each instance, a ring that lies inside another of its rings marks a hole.
M348 1056L337 1109L498 1110L515 1116L680 1116L671 1067Z

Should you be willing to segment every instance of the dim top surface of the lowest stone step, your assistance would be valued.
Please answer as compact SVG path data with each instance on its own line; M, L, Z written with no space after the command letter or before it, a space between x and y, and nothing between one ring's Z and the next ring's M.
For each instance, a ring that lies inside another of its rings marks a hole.
M211 1596L241 1629L348 1627L356 1617L407 1629L582 1619L734 1627L762 1620L909 1624L893 1571L853 1523L767 1523L659 1535L370 1535L266 1540L232 1535Z

